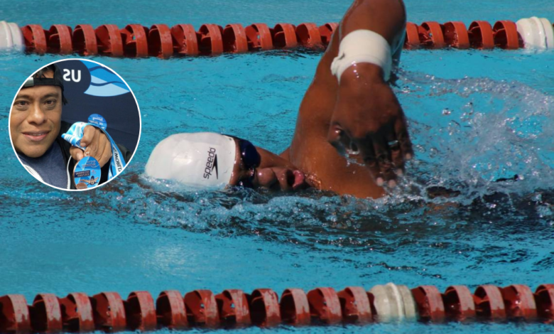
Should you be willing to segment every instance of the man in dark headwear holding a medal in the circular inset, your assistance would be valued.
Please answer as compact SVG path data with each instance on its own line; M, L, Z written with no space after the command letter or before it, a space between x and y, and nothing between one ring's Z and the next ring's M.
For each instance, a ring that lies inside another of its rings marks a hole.
M38 70L26 80L13 101L10 135L13 149L31 175L56 188L75 189L70 175L84 153L61 137L71 125L62 121L64 104L67 99L58 66L53 64ZM87 126L81 146L102 167L100 183L107 181L108 173L104 169L109 168L107 162L112 157L107 136L94 126ZM132 153L123 146L118 147L125 161L129 161Z

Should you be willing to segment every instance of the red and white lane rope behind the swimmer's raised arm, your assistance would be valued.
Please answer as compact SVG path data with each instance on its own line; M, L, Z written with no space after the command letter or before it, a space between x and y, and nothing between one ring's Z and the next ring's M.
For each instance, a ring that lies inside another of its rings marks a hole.
M293 49L298 47L324 50L330 43L338 23L277 23L269 28L254 23L244 28L239 23L218 26L203 24L198 31L190 24L169 28L154 24L150 28L129 24L119 28L104 24L93 28L80 24L70 28L55 24L45 30L38 24L18 28L15 23L0 21L0 50L16 48L28 53L106 55L111 57L159 57L220 55L259 50ZM404 48L415 49L491 49L554 48L554 26L546 18L522 18L497 21L474 21L466 28L460 21L438 23L425 21L406 24Z

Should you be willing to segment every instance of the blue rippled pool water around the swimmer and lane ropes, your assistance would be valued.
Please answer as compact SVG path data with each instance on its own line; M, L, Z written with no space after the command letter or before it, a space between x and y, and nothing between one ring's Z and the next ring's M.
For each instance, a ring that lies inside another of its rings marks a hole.
M339 21L349 1L43 1L2 19L53 23ZM406 0L408 21L533 15L550 1ZM0 296L118 291L252 291L364 286L393 281L444 291L465 284L554 283L554 53L419 50L402 55L396 88L416 158L381 200L307 191L190 193L142 176L158 141L179 131L218 131L282 151L320 54L271 51L170 60L94 57L118 72L141 107L139 149L116 181L86 193L40 185L18 163L8 134L17 87L58 55L0 54ZM271 122L268 122L268 119ZM514 175L523 180L494 182ZM444 186L459 195L430 198ZM327 328L293 329L312 333ZM392 323L337 333L547 333L542 324ZM241 330L259 332L258 328Z

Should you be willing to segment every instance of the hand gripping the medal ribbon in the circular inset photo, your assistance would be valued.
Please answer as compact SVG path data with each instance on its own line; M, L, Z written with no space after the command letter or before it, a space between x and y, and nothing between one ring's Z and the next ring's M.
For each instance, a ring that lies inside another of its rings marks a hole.
M112 144L109 143L106 134L94 126L87 125L83 130L81 146L89 150L89 156L97 159L100 168L112 158ZM76 161L85 157L85 152L76 146L71 146L70 154Z

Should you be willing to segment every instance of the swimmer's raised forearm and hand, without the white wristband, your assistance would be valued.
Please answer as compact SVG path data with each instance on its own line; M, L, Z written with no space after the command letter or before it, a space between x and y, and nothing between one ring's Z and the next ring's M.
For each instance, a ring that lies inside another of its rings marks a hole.
M405 26L402 1L357 0L342 19L339 38L367 29L379 33L389 45L398 45ZM398 60L399 53L391 51ZM359 151L378 185L396 184L396 176L403 173L413 151L406 117L378 65L359 63L342 73L327 140L340 152ZM396 140L398 146L388 145Z

